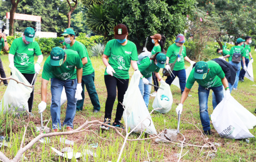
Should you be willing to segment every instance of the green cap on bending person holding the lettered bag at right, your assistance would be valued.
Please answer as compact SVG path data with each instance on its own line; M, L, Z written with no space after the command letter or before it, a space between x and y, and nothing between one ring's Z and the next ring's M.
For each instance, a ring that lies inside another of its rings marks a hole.
M208 73L208 64L205 61L199 61L196 66L194 66L194 78L195 79L205 79Z

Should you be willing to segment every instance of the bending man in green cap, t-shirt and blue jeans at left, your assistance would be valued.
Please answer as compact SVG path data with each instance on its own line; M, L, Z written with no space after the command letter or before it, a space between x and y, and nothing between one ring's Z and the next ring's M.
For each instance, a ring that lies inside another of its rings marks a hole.
M66 126L68 130L73 130L76 102L82 99L82 67L81 58L76 51L71 49L63 50L60 47L52 48L51 55L45 61L42 71L41 103L38 105L38 109L39 113L46 109L47 84L51 78L52 104L50 109L54 132L62 128L60 122L60 98L63 87L68 100L63 126Z

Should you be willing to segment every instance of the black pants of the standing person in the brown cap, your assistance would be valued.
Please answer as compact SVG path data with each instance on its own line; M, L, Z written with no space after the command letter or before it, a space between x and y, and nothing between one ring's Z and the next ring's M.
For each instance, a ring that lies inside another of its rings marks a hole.
M112 77L110 75L105 75L104 79L105 79L105 84L106 84L106 88L107 88L105 118L111 119L111 114L112 114L113 105L115 102L115 97L117 96L117 99L118 99L117 113L115 113L115 121L114 122L118 122L119 120L121 120L121 118L123 116L124 108L123 108L123 105L121 105L121 103L123 103L124 94L129 85L129 79L126 79L126 81L124 79L120 79L121 82L123 82L124 84L121 83L114 76ZM117 91L118 91L118 95L117 95Z

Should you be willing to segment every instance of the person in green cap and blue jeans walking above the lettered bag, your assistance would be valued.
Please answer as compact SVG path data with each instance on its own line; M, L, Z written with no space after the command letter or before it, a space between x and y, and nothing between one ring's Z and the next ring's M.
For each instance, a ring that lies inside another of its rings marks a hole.
M246 56L246 51L245 48L242 46L243 42L245 40L238 38L236 40L236 45L234 47L232 47L229 51L229 54L225 55L223 58L228 58L229 63L233 66L235 66L238 70L236 71L236 78L235 78L235 84L234 85L229 85L230 88L230 92L232 90L237 90L237 86L238 86L238 82L239 82L239 74L240 74L240 70L241 70L241 61L237 62L233 60L233 54L234 53L241 53L241 60L243 63L243 69L246 71L247 67L245 64L245 56Z

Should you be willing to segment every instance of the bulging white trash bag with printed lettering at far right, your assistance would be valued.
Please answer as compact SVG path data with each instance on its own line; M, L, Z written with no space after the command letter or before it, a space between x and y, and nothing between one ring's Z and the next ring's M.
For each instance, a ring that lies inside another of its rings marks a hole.
M240 115L237 115L245 111L245 108L242 109L242 106L240 106L240 104L237 105L238 102L234 101L235 99L232 96L230 96L228 101L225 101L224 97L221 103L214 109L214 112L211 114L214 128L222 138L253 138L254 136L249 132L246 124L242 121L244 119L241 119Z

